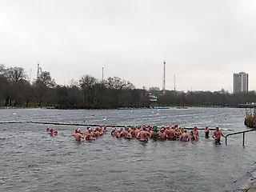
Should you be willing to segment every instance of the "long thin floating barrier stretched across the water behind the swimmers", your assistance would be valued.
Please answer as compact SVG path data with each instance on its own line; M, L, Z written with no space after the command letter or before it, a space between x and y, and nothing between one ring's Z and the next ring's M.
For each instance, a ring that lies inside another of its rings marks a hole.
M58 125L58 126L106 126L106 127L125 127L127 125L104 125L104 124L87 124L87 123L79 123L79 122L34 122L34 121L11 121L11 122L0 122L0 124L7 123L34 123L34 124L47 124L47 125ZM131 126L127 126L131 127ZM161 126L158 126L160 128ZM185 130L193 130L193 127L184 127ZM205 130L204 127L198 127L198 130ZM216 130L215 128L209 128L209 130ZM220 130L234 130L234 129L226 129L220 128Z

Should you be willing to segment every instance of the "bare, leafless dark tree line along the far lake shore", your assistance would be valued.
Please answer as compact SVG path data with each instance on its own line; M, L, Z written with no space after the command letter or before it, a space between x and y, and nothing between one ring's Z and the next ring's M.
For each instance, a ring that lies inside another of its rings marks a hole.
M152 100L152 96L157 100ZM42 71L30 82L22 67L0 65L0 106L42 107L58 109L116 109L118 107L150 106L232 106L256 102L255 91L230 94L219 91L177 91L158 87L137 89L118 77L98 80L82 75L70 85L56 84L49 71Z

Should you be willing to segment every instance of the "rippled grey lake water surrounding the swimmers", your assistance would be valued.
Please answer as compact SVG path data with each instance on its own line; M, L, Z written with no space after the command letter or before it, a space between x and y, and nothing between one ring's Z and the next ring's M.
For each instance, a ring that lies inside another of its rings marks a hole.
M244 109L187 110L0 110L3 121L86 122L117 125L173 125L246 130ZM106 118L106 121L103 120ZM222 138L215 146L199 130L198 142L142 143L108 132L92 142L75 142L78 126L0 124L0 191L234 191L256 170L256 133ZM81 130L86 128L80 126ZM210 135L213 131L210 131Z

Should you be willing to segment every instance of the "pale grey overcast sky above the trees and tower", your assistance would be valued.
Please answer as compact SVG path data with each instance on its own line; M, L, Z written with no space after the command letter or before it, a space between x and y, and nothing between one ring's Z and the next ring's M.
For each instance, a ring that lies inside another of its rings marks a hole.
M0 0L0 63L58 84L84 74L137 88L256 90L254 0Z

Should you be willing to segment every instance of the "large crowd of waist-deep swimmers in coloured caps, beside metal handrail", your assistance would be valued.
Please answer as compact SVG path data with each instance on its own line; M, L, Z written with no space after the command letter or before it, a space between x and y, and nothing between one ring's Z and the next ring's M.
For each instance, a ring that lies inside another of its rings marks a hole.
M76 141L80 141L81 138L86 140L93 140L99 136L104 135L107 132L106 126L99 126L94 129L87 126L87 129L84 133L77 128L74 130L74 136ZM205 128L205 136L209 138L210 130L209 127L206 126ZM123 128L117 128L115 126L111 129L111 135L116 138L126 138L126 139L133 139L136 138L141 142L147 142L149 138L154 140L180 140L182 142L189 142L190 140L198 140L198 127L194 126L194 129L190 131L190 134L187 133L187 130L184 127L178 127L177 124L174 126L161 126L160 129L158 126L124 126ZM221 136L225 137L222 134L222 131L219 130L218 126L216 126L216 130L212 135L216 144L220 144Z

